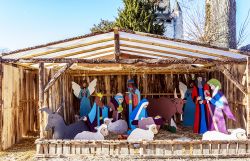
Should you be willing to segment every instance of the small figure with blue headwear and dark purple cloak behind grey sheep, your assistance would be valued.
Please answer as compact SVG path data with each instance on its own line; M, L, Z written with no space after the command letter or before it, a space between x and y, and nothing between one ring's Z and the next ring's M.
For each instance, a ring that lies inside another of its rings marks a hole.
M117 93L115 97L111 98L110 102L108 103L108 107L110 108L110 111L112 113L112 121L122 119L123 101L123 95L121 93Z

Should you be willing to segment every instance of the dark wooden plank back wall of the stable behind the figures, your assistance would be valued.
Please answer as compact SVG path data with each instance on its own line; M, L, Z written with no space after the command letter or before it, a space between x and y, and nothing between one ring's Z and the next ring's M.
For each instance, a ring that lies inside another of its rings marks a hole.
M242 82L245 66L233 66L230 68L231 72L235 77L239 78ZM55 72L48 72L53 75ZM209 72L209 73L198 73L202 75L206 80L216 78L222 83L222 91L226 95L229 101L230 108L236 116L237 122L227 120L228 128L245 128L246 127L246 103L244 94L233 85L221 72ZM197 75L197 74L196 74ZM138 84L138 88L143 94L142 97L154 97L160 96L173 97L174 88L178 91L178 82L182 81L187 84L191 80L191 74L131 74L131 75L107 75L107 76L72 76L70 74L64 74L60 77L59 81L50 89L48 98L49 107L55 111L60 104L63 104L63 116L67 123L75 121L75 115L79 114L79 103L78 100L72 93L71 81L75 81L80 84L81 80L86 79L88 82L93 79L97 79L97 92L102 92L105 95L104 102L116 94L121 92L125 94L127 91L127 80L134 78ZM52 94L53 93L53 94ZM91 97L93 103L94 97ZM126 109L126 108L125 108Z

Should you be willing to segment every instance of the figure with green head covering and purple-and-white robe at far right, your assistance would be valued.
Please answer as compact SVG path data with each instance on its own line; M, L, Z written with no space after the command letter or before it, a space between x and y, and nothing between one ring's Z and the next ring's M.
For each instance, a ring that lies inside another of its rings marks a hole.
M208 85L211 87L213 93L212 97L206 97L207 100L214 106L213 120L214 124L211 124L211 130L216 130L227 134L226 122L223 113L227 118L235 121L235 117L232 114L228 101L225 95L221 92L221 83L217 79L210 79ZM217 126L217 127L216 127Z

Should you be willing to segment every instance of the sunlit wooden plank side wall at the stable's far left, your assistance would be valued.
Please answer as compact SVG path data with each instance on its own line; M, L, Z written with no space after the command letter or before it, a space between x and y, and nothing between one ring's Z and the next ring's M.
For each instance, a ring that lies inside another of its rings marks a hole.
M6 149L29 132L38 130L37 74L22 67L3 65L1 143Z

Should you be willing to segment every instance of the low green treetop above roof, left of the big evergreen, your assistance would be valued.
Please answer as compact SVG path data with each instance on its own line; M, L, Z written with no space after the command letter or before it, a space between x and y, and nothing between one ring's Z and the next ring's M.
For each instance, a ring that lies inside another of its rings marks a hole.
M97 25L94 25L90 31L92 33L94 32L106 32L115 27L115 23L113 21L103 20L101 19L101 22Z

